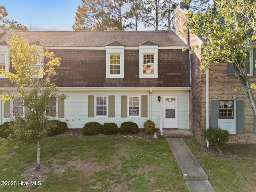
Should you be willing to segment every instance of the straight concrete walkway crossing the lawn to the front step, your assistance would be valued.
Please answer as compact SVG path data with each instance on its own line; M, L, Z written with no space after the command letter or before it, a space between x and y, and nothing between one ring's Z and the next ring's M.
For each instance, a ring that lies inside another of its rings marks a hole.
M183 139L167 139L190 192L215 192L208 176Z

